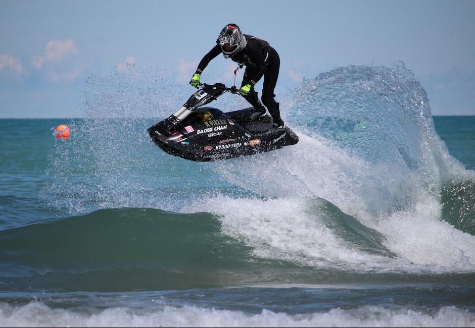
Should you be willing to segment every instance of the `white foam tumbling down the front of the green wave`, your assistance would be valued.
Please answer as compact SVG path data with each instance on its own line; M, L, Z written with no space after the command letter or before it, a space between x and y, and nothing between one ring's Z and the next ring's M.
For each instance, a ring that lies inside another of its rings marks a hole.
M318 217L305 211L305 200L232 199L218 196L187 208L208 208L220 215L223 233L243 240L262 258L289 260L315 267L384 269L386 257L343 245Z

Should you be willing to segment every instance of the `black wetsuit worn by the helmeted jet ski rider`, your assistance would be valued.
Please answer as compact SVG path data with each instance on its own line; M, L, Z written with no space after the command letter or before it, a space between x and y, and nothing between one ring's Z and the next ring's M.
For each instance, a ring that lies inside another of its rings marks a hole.
M246 66L241 87L246 84L252 86L251 92L244 98L258 111L264 111L261 102L254 90L254 86L264 75L264 86L262 88L262 102L269 110L274 122L280 123L279 103L275 101L274 89L279 76L280 58L269 42L251 35L244 35L247 40L246 47L231 57L233 62ZM221 53L221 46L216 44L201 60L196 70L201 74L208 66L209 62Z

